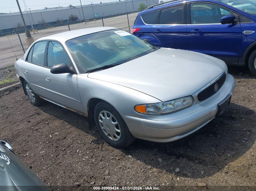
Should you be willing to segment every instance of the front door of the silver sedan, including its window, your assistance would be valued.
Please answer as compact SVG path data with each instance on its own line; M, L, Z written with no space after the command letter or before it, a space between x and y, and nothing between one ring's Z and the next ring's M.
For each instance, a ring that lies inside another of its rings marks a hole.
M67 64L72 67L68 54L63 46L56 41L49 41L47 55L47 67L44 68L44 80L48 92L48 99L62 106L84 113L80 94L77 86L77 74L52 74L51 68L57 64Z

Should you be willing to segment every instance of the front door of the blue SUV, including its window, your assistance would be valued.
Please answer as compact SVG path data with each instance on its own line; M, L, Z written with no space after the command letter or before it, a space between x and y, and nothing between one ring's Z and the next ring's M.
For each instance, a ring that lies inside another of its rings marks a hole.
M234 15L234 24L221 24L221 18ZM188 50L222 59L237 65L242 29L238 14L214 3L188 3Z

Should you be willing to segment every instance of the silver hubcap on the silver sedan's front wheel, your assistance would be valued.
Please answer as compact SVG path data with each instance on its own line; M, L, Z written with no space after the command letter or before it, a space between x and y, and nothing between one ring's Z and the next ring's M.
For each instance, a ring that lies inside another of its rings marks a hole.
M112 141L118 141L121 138L121 129L115 117L108 111L99 113L99 123L104 134Z

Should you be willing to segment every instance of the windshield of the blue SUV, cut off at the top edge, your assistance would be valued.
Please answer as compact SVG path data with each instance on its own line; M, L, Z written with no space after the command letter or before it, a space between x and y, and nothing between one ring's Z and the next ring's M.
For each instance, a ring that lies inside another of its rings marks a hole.
M219 0L250 14L256 14L256 0Z

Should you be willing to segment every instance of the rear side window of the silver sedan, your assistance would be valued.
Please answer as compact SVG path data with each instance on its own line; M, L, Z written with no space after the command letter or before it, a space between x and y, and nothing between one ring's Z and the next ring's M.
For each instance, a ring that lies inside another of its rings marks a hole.
M41 41L41 42L35 43L31 62L39 65L44 65L46 44L47 44L47 41Z

